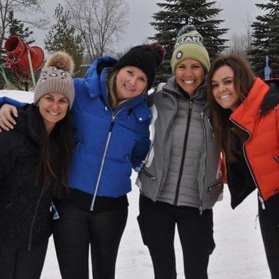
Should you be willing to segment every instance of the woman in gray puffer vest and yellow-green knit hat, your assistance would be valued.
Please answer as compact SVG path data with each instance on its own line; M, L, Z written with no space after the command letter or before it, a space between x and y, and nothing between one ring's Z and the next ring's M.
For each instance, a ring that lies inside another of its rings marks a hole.
M212 207L223 183L206 107L209 54L193 25L179 31L171 63L174 77L151 95L153 144L137 179L138 222L156 279L176 278L175 225L186 279L207 279L215 248Z

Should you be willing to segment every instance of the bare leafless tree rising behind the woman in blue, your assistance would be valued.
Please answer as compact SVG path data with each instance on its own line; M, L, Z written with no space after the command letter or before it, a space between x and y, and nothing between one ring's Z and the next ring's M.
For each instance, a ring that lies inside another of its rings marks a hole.
M124 0L65 0L73 26L84 32L84 45L91 61L109 51L127 25Z

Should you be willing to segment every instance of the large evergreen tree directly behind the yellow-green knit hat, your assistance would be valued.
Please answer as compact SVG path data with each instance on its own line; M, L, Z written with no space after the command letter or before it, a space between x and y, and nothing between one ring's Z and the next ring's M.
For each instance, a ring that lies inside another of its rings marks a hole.
M156 82L165 82L172 75L170 59L176 35L186 24L194 24L204 37L204 46L211 58L223 52L227 40L221 37L228 29L220 28L224 20L216 19L221 9L214 8L215 3L206 0L165 0L164 3L157 3L161 10L153 15L155 22L151 22L157 33L150 39L165 46L166 56L158 69Z

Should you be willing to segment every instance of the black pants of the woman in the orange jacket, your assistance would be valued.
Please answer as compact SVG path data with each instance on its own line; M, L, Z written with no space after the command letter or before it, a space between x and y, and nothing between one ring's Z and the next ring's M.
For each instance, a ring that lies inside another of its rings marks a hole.
M279 195L265 202L265 207L259 203L259 225L271 278L279 279Z

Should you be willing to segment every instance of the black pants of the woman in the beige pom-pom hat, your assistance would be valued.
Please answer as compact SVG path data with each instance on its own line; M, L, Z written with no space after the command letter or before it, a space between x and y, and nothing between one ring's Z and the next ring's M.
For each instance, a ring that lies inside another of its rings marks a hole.
M42 273L47 242L33 247L30 251L19 248L0 257L0 278L2 279L38 279Z

